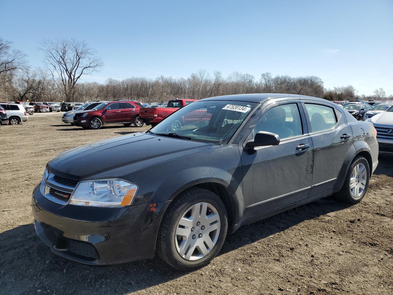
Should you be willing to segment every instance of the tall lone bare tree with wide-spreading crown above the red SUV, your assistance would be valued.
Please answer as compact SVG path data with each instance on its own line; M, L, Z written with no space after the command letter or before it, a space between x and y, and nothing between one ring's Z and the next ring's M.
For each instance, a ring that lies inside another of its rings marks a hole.
M40 49L46 53L44 63L53 81L62 89L66 101L75 100L76 83L82 75L99 72L104 65L101 57L96 56L84 41L44 41L41 46Z

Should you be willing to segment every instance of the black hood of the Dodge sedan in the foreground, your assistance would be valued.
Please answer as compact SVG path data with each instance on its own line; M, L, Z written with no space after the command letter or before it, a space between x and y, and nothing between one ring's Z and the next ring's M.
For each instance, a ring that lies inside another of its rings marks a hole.
M135 133L68 149L50 160L47 168L56 175L75 180L121 178L147 166L219 146Z

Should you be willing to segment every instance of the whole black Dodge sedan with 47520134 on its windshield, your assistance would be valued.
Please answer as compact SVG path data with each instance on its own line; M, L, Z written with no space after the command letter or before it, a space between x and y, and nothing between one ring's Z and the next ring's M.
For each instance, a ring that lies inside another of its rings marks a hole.
M195 112L202 116L187 120ZM175 120L187 122L176 133ZM146 133L48 162L33 192L35 229L54 253L85 264L158 252L173 267L193 270L241 225L332 194L359 202L377 164L373 124L327 100L207 98Z

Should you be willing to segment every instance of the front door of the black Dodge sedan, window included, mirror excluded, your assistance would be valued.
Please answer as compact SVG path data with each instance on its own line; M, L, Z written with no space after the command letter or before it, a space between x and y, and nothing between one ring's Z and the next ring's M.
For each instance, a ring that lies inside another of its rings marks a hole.
M312 179L313 146L300 103L266 107L253 125L243 147L259 131L279 135L280 144L241 150L244 219L306 199Z

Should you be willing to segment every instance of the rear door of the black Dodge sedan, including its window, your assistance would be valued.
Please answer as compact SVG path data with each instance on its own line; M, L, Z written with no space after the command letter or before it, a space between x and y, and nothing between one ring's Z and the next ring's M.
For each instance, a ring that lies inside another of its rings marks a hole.
M329 103L302 100L312 144L314 168L310 196L332 190L353 144L345 115Z

